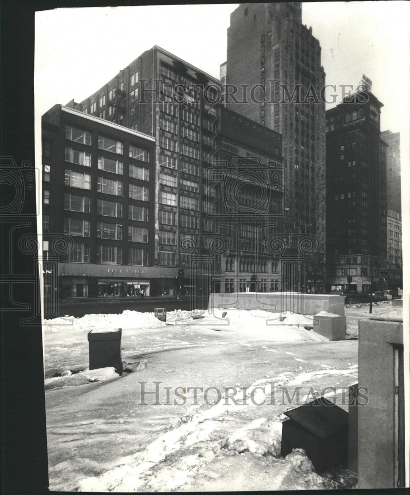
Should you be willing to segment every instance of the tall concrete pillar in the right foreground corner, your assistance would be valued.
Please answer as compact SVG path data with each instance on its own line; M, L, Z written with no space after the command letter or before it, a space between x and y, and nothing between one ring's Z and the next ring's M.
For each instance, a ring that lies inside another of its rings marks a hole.
M359 390L362 393L366 390L368 398L368 403L362 400L358 406L360 489L404 486L404 467L400 464L404 463L404 419L400 419L404 417L404 385L400 379L403 375L400 359L403 361L403 320L400 321L399 312L397 318L359 321Z

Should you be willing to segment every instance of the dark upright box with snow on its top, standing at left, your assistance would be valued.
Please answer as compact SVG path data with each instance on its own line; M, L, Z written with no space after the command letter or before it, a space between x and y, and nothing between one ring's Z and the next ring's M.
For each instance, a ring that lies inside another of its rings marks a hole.
M121 336L121 328L96 328L88 332L90 370L114 366L118 374L123 374Z

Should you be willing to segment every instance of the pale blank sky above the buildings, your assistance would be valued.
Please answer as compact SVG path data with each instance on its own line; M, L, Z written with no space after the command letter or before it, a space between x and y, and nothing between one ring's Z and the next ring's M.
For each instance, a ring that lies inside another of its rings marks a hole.
M55 103L86 98L154 45L219 77L219 65L226 59L226 29L237 5L37 12L37 118ZM403 132L409 99L409 2L304 3L302 21L320 41L326 83L356 88L366 74L373 94L384 103L382 130Z

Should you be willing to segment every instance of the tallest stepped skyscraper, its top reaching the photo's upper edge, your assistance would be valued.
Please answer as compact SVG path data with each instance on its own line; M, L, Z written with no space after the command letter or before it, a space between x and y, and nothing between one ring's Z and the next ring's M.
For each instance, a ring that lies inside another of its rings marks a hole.
M324 275L324 85L321 47L312 28L302 24L301 2L245 3L232 12L226 107L283 134L284 232L313 234L319 241L316 259L308 267L308 285L313 283L309 271L317 272L318 264ZM323 289L323 279L319 283L314 278Z

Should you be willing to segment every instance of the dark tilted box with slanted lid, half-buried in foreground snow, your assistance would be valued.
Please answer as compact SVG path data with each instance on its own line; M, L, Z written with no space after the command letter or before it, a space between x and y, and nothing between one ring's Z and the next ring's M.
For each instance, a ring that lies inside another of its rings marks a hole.
M347 464L348 413L324 397L285 412L281 456L303 448L318 473Z

